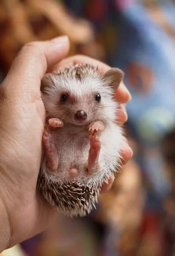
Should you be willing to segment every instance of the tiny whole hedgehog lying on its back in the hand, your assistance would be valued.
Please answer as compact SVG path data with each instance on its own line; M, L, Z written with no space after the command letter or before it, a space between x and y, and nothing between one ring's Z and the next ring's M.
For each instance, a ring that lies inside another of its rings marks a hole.
M102 74L91 64L76 64L42 79L45 156L37 189L64 215L89 214L120 166L123 134L114 93L123 77L118 68Z

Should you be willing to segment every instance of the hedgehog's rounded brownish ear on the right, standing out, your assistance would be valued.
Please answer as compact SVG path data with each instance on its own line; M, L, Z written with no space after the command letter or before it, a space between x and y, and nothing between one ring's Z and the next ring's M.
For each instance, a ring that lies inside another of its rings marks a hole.
M124 78L124 72L119 68L113 67L104 74L104 81L116 91Z

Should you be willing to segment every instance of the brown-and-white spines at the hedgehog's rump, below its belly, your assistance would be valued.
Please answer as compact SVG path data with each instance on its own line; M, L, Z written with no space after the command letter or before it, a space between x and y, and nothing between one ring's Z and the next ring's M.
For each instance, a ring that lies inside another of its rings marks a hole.
M37 189L53 207L64 215L85 216L90 213L97 202L100 186L88 186L80 182L54 183L49 182L43 175L39 175Z

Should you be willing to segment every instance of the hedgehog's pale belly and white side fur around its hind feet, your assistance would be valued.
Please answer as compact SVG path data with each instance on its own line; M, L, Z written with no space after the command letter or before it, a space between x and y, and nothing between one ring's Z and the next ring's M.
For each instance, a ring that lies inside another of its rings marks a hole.
M63 183L66 181L81 181L87 185L101 185L107 177L113 176L119 166L121 150L121 128L113 122L106 125L104 131L98 134L101 141L99 155L99 171L88 175L86 166L90 150L90 135L87 127L65 126L54 131L54 138L59 157L57 171L47 167L46 157L42 163L42 174L49 182ZM70 179L69 169L76 164L78 176Z

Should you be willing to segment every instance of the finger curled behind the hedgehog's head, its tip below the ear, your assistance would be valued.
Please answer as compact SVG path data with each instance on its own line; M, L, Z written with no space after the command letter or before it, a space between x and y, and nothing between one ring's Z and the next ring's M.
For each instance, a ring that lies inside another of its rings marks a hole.
M58 64L56 64L51 71L58 70L59 68L63 71L66 65L76 65L76 64L93 64L94 67L99 67L99 69L102 71L102 74L104 74L107 70L110 70L110 66L107 64L104 64L101 61L98 61L96 59L90 58L88 56L84 55L75 55L68 58L65 58L64 60L60 61ZM115 93L116 100L120 103L126 103L131 99L131 95L127 88L125 87L124 83L121 82L120 86L116 90Z

